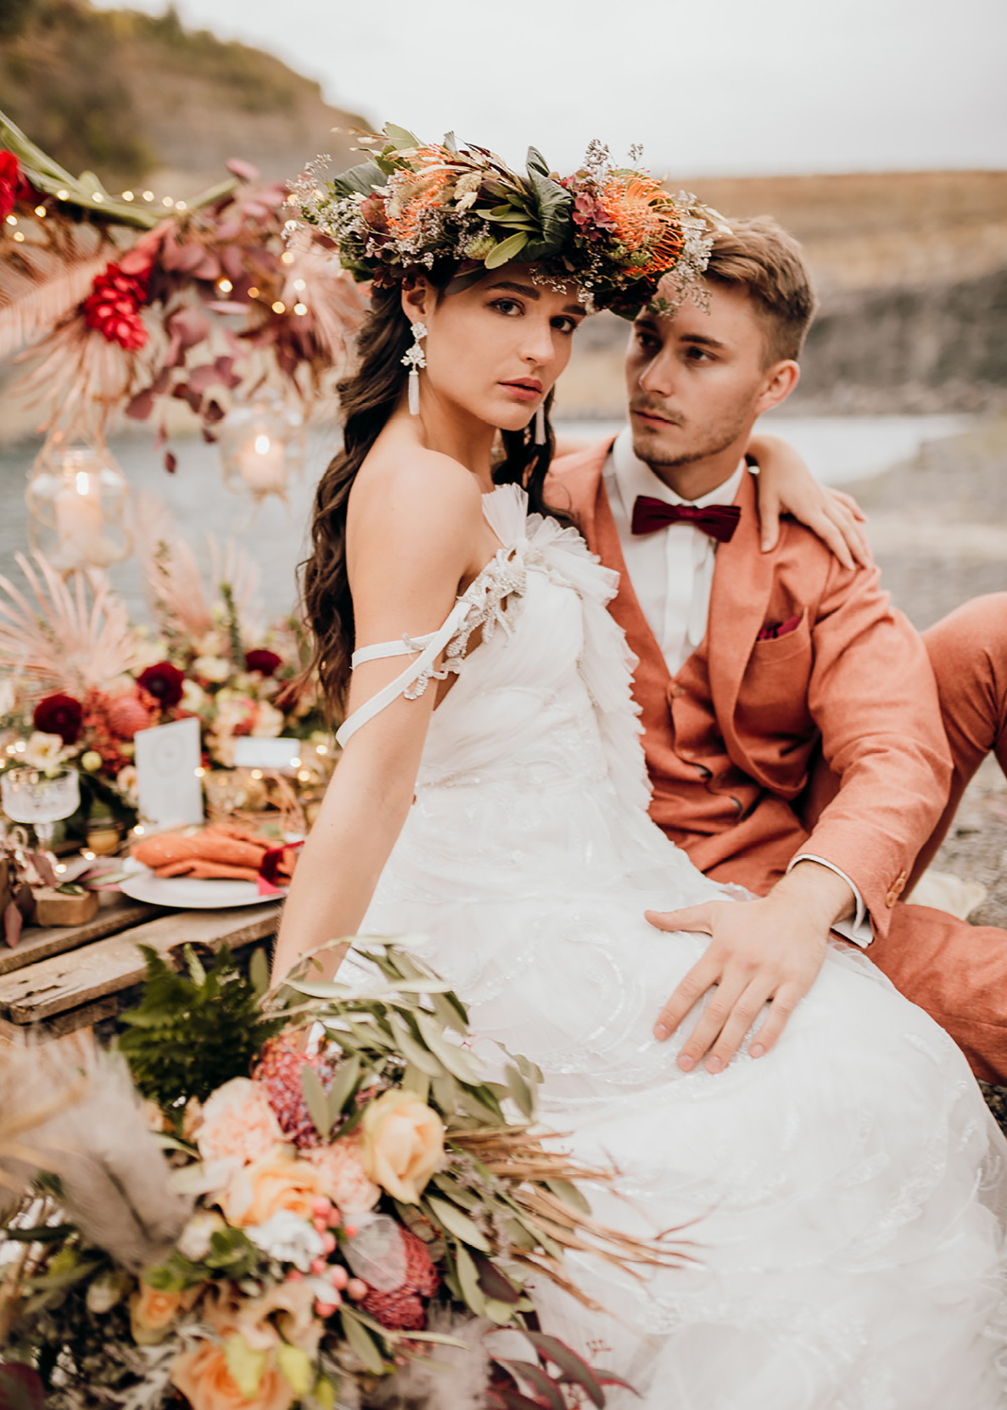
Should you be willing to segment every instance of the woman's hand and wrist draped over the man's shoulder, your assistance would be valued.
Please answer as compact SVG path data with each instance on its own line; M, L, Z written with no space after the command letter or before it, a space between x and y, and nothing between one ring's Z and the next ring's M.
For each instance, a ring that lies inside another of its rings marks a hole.
M762 550L780 537L780 515L793 515L832 550L843 568L870 567L863 513L852 495L819 485L801 455L779 436L753 436L749 455L759 465Z

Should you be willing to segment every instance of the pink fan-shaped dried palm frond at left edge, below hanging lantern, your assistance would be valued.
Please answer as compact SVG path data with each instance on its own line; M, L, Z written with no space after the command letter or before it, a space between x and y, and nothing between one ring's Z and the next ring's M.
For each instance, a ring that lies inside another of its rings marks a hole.
M80 694L137 663L141 640L103 577L78 572L71 587L41 553L32 554L34 568L24 554L14 557L35 602L0 574L0 668Z

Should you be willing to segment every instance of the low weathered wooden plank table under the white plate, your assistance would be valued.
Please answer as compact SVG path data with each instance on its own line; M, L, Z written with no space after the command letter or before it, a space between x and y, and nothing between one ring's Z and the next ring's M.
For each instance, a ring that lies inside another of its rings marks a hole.
M90 1029L118 1012L120 995L145 973L138 946L161 955L183 945L233 950L268 940L279 902L226 911L166 911L116 897L86 925L30 926L0 949L0 1041L24 1043Z

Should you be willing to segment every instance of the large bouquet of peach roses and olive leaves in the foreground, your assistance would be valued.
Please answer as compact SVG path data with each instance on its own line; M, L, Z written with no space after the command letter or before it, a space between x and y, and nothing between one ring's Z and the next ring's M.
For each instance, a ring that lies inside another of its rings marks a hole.
M175 973L148 952L118 1053L83 1074L7 1055L0 1399L605 1403L619 1382L537 1330L526 1277L581 1296L567 1249L680 1255L591 1218L574 1182L611 1173L549 1149L536 1070L502 1053L489 1080L443 983L395 945L355 953L362 986L303 966L262 1005L261 957L245 979L226 953Z

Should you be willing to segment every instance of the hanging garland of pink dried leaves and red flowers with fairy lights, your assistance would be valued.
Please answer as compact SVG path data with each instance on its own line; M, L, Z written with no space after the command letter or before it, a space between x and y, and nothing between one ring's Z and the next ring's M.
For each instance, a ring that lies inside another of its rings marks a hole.
M32 350L23 389L55 424L100 433L182 400L212 441L243 389L269 382L306 413L333 392L364 303L331 241L286 250L283 185L236 159L228 182L162 219L85 190L0 113L3 137L0 355Z

